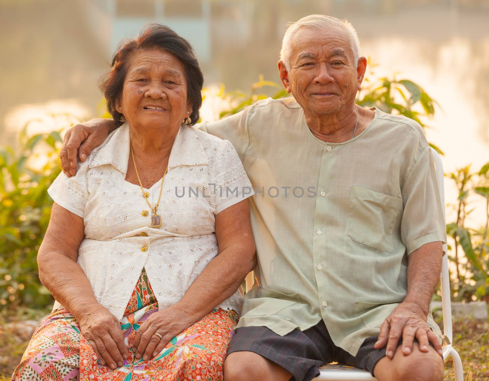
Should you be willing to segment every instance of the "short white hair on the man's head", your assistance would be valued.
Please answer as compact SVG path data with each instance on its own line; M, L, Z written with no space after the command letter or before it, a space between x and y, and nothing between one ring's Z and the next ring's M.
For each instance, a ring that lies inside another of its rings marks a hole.
M311 28L311 29L319 29L324 30L333 27L342 28L350 42L350 49L353 53L353 60L355 67L358 66L358 58L360 56L360 41L358 40L358 35L356 34L356 30L353 25L346 19L343 21L336 19L332 16L325 15L310 15L303 17L299 21L289 22L289 27L285 32L284 39L282 40L282 49L280 50L280 60L284 63L287 70L290 69L290 51L292 45L292 37L295 32L300 28Z

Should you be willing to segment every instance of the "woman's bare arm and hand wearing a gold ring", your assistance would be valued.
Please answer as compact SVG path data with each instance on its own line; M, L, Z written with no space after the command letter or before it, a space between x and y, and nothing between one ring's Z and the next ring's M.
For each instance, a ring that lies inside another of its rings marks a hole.
M233 295L256 266L248 200L216 214L218 255L195 279L178 303L151 315L139 330L133 350L136 358L156 356L182 330L207 315ZM155 332L163 336L159 339Z

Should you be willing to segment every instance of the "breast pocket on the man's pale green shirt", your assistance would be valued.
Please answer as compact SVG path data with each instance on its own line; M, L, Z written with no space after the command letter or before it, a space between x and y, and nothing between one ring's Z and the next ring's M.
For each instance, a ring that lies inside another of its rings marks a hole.
M394 226L400 212L400 198L352 187L348 204L348 235L355 242L392 253Z

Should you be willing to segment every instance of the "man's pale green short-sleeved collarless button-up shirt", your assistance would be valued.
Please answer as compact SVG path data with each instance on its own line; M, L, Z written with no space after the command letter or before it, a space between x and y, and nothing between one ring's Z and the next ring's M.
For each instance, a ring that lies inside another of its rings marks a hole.
M286 335L323 319L356 355L406 296L408 255L446 242L421 126L372 109L370 125L344 143L316 138L293 98L200 126L233 144L255 191L258 266L238 328ZM428 324L441 337L431 316Z

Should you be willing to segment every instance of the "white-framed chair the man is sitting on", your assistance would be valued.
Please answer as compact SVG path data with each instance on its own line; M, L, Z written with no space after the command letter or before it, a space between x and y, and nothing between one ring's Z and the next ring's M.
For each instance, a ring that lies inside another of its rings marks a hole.
M431 148L431 152L435 159L436 178L438 182L438 191L443 206L443 217L445 219L445 187L444 187L444 172L442 159L437 151ZM450 279L448 275L448 258L446 254L446 244L443 245L443 259L441 278L442 292L442 310L443 310L443 360L452 357L455 368L455 381L464 381L464 372L462 368L462 360L457 351L452 347L452 312L450 304ZM246 289L249 290L253 285L253 273L246 276ZM324 365L320 368L321 374L316 377L316 381L372 381L377 380L375 377L362 369L356 369L342 365Z

